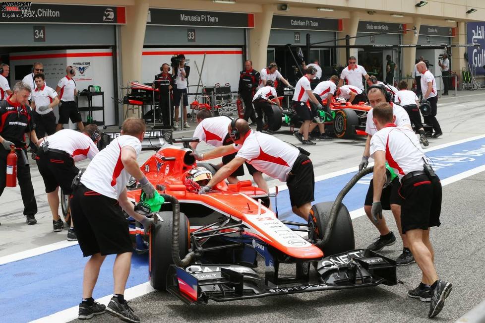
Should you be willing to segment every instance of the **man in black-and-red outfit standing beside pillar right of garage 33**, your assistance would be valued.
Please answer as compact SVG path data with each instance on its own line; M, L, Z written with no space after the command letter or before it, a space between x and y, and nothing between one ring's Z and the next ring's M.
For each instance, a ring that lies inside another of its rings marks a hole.
M259 84L259 72L252 68L252 61L244 62L244 69L239 76L238 94L244 102L244 116L245 121L251 119L251 125L256 124L256 114L252 107L252 97Z

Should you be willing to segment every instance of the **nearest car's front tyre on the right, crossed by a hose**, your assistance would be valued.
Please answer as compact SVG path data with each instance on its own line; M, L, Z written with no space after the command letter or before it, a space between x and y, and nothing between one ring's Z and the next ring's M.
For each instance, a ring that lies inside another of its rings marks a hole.
M310 227L313 227L313 238L321 240L325 234L333 202L314 204L310 210ZM310 233L311 234L311 233ZM324 257L340 254L355 249L354 227L349 210L342 204L333 226L327 245L322 248Z

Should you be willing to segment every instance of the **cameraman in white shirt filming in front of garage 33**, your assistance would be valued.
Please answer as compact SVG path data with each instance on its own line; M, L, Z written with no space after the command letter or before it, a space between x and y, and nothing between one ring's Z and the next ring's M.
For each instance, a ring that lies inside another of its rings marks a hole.
M174 89L174 105L175 105L175 124L174 129L179 129L179 107L182 102L183 105L183 115L182 120L183 128L188 129L190 126L187 123L187 106L188 106L188 96L187 96L187 86L188 86L188 75L190 74L190 66L185 65L185 55L177 55L179 60L179 66L173 68L172 77L175 79L175 89Z

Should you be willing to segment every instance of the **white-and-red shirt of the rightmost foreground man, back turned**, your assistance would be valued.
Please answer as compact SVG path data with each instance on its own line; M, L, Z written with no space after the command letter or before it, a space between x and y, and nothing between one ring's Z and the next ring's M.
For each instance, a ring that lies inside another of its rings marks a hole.
M423 170L425 156L413 130L394 124L380 129L370 138L370 157L374 158L376 151L386 153L386 161L399 179L410 172Z

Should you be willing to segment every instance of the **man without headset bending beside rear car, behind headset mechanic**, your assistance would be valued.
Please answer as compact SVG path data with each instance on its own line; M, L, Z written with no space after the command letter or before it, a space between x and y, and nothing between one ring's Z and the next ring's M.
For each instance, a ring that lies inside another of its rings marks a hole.
M337 90L337 83L339 81L339 77L337 75L332 75L330 80L323 81L317 84L313 89L313 94L315 95L317 101L323 105L323 100L326 100L325 105L323 106L323 110L325 113L331 116L330 114L330 105L333 100L333 95ZM320 136L317 137L319 140L332 140L332 137L325 134L325 119L320 118L318 115L318 109L313 105L312 102L310 104L314 107L313 109L313 122L310 124L308 128L308 133L312 133L315 127L318 127L320 131Z

